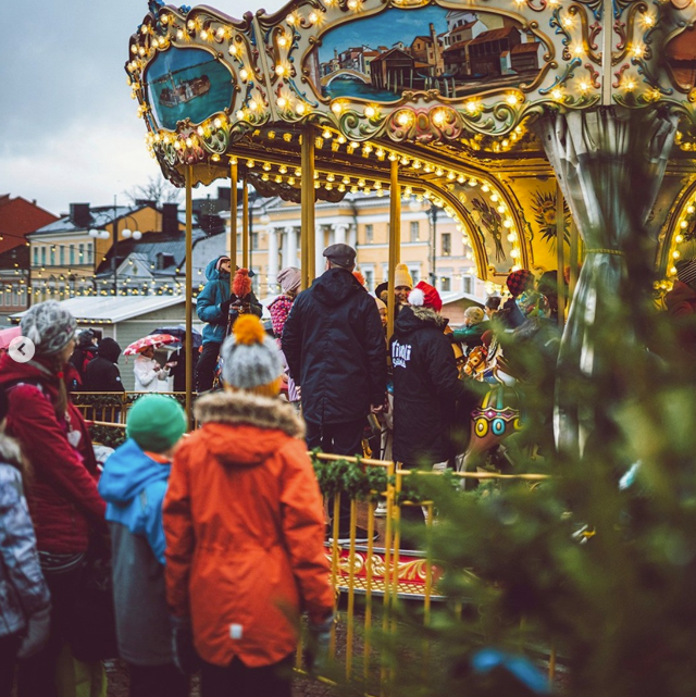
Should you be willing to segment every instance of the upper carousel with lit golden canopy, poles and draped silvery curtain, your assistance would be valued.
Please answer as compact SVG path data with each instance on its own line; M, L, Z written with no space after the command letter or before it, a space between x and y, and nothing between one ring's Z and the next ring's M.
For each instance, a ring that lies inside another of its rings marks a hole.
M315 202L376 194L390 201L393 288L401 206L426 200L457 221L483 281L557 270L560 286L570 269L559 362L588 379L588 328L631 259L657 270L659 290L680 256L695 256L691 0L293 0L241 18L158 0L149 10L125 69L147 147L186 188L189 256L192 187L229 179L231 210L244 211L241 249L234 214L229 249L243 266L249 187L301 203L307 287ZM191 284L189 273L189 332ZM189 374L189 406L191 386ZM577 453L593 415L558 394L557 438Z

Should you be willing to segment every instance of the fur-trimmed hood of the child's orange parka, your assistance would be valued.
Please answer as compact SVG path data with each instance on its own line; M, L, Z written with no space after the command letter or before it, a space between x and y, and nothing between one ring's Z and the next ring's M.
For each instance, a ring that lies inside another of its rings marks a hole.
M256 466L302 438L304 424L287 402L249 393L213 393L194 408L207 450L228 466Z

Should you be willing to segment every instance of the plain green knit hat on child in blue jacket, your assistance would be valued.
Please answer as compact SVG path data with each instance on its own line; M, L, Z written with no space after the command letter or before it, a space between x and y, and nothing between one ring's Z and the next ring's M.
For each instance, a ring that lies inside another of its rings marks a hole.
M186 433L186 414L173 397L145 395L126 420L126 436L144 450L164 452Z

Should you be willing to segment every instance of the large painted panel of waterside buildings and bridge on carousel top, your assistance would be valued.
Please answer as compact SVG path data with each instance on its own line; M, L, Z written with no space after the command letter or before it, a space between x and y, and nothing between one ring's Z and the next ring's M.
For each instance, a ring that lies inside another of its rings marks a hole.
M510 17L435 5L390 9L330 29L321 40L308 58L318 91L382 102L407 90L455 99L530 83L545 50Z

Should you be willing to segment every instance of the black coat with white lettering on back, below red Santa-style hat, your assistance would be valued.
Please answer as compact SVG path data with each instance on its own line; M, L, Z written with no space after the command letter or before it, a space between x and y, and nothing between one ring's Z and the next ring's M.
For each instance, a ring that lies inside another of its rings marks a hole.
M394 460L435 464L452 457L457 400L469 398L459 379L446 320L430 308L405 307L389 343L394 373Z

